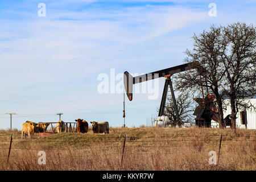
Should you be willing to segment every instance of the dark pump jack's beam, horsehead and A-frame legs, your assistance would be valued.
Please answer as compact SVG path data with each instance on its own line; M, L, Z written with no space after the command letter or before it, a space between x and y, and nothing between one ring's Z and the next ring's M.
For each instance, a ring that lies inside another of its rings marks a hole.
M170 86L171 94L172 94L172 101L174 103L174 108L175 108L176 119L179 122L179 126L181 126L181 124L184 124L184 123L180 120L179 113L177 111L176 99L175 99L175 95L174 95L174 89L172 87L171 76L174 75L175 73L180 73L180 72L188 71L190 69L194 69L192 65L195 63L196 63L196 61L192 62L192 63L181 64L181 65L177 65L176 67L162 69L160 71L155 71L155 72L147 73L145 75L136 76L136 77L131 76L130 73L128 73L126 71L123 73L123 84L125 85L125 91L126 91L127 97L129 98L130 101L133 100L133 85L134 84L138 84L143 81L154 80L155 78L165 77L166 82L164 84L162 101L160 104L158 116L160 117L164 114L168 86Z

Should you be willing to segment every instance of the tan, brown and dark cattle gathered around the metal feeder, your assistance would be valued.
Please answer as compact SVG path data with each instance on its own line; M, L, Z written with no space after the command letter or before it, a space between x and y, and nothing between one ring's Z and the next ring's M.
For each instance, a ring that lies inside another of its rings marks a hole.
M84 119L76 119L77 122L77 133L87 133L88 132L88 122L86 122ZM109 122L90 122L92 123L92 131L93 133L104 133L109 134ZM26 121L22 125L22 138L23 135L26 134L30 138L31 134L44 132L46 131L47 127L49 126L49 123L35 123L32 121ZM63 121L58 121L55 125L55 130L57 133L62 133L65 131L65 123Z

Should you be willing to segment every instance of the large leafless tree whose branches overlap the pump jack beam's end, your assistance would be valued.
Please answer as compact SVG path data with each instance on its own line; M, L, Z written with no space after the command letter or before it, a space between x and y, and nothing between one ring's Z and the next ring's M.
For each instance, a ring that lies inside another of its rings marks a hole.
M222 65L222 57L227 46L222 36L222 27L211 26L210 30L203 31L199 36L193 35L193 50L185 52L185 61L193 64L193 70L186 73L179 73L175 78L176 89L181 92L197 93L204 98L204 88L216 97L218 107L218 119L220 127L224 127L223 117L223 94L220 90L224 82L226 69ZM201 93L200 93L201 92ZM208 94L207 93L207 94Z

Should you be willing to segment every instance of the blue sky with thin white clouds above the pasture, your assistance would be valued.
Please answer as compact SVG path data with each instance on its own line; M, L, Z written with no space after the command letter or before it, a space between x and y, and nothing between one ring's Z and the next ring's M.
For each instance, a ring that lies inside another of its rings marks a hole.
M39 3L46 16L39 17ZM217 16L209 16L216 3ZM191 36L209 26L255 25L255 1L0 0L0 129L77 118L122 126L123 94L97 90L98 75L148 73L183 64ZM118 81L117 81L118 82ZM116 83L117 83L116 82ZM126 125L156 117L159 97L126 100Z

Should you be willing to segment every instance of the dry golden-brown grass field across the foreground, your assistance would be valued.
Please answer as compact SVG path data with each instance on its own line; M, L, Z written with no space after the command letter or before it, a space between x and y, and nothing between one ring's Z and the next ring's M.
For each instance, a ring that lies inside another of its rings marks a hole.
M20 139L15 130L9 163L10 131L0 131L0 170L254 170L256 131L230 129L110 128L110 134L60 133ZM219 165L210 165L223 133ZM125 154L121 166L124 135ZM38 152L46 152L46 165Z

